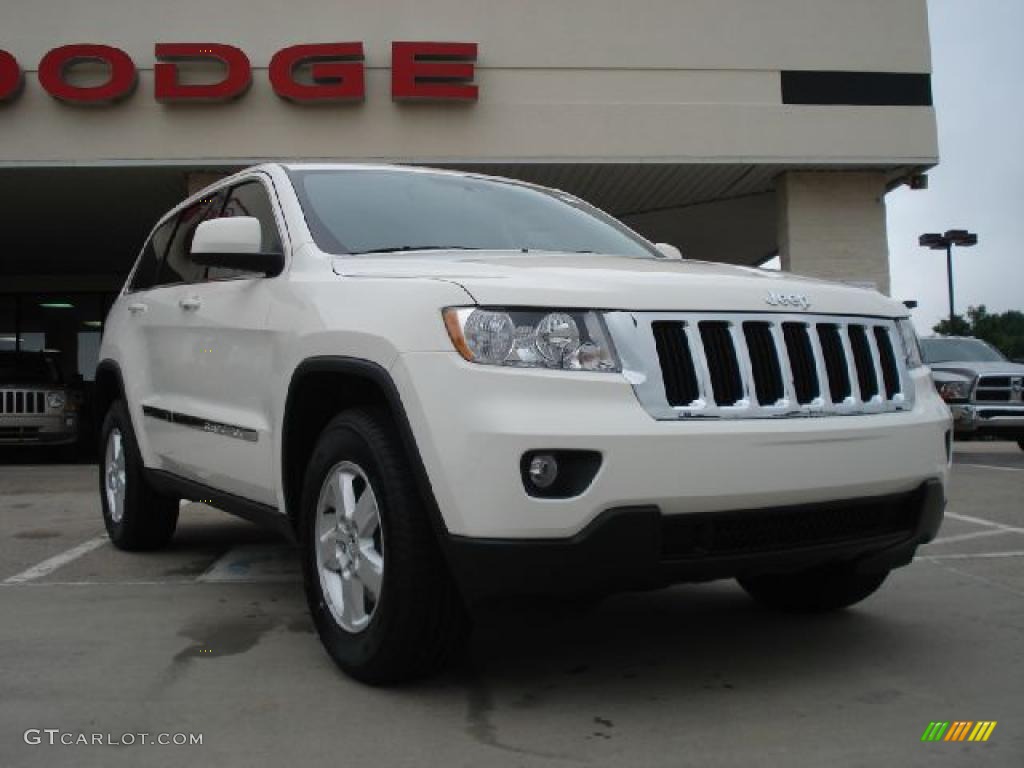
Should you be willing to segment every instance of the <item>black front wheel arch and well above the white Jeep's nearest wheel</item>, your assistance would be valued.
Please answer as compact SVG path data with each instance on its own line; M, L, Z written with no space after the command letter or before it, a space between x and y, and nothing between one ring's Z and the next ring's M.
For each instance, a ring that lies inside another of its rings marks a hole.
M382 366L357 357L309 357L296 367L288 385L282 429L281 477L285 508L297 527L305 467L319 433L338 413L378 406L390 415L401 438L417 489L438 535L446 534L416 436L391 375Z

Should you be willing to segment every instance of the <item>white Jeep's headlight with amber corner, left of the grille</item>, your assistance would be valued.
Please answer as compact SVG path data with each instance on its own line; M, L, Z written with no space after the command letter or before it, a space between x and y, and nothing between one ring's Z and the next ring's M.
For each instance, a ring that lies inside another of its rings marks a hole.
M449 307L444 327L464 358L484 366L622 370L598 312Z

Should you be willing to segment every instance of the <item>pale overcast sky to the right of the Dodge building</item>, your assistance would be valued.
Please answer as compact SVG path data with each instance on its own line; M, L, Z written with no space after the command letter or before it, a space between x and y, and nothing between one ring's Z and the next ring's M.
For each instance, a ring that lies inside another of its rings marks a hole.
M927 335L948 313L945 254L926 231L967 228L953 250L956 311L1024 310L1024 0L929 0L940 163L929 188L888 196L892 295Z

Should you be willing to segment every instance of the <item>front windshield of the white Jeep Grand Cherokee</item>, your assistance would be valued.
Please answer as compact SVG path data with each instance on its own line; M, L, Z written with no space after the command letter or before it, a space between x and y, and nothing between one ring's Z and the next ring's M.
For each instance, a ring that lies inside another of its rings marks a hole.
M611 217L561 193L397 170L290 175L313 239L328 253L456 249L658 257Z

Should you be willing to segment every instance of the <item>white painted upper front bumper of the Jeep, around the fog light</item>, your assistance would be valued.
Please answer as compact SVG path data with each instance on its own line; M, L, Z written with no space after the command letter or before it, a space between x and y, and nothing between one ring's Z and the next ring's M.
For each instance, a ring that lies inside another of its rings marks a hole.
M618 375L489 368L454 351L401 355L391 374L454 537L568 540L609 510L818 505L948 474L949 411L924 370L907 412L680 422L652 419ZM598 452L601 465L579 496L535 498L520 463L541 450Z

